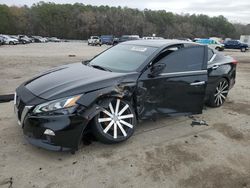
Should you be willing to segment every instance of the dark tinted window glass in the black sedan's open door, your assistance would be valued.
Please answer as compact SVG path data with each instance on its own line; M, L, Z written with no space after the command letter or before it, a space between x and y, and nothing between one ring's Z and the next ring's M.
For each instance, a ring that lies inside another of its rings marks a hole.
M204 58L207 55L205 54L204 48L205 46L181 48L177 51L172 51L170 54L161 58L157 63L166 64L162 73L202 70Z

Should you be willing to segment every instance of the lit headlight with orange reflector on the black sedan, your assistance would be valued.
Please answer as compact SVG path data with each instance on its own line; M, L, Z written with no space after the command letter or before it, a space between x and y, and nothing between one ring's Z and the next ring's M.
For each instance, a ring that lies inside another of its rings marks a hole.
M60 114L72 113L75 110L77 104L76 101L82 95L77 95L73 97L62 98L50 102L46 102L40 105L37 105L33 110L33 113L50 113L50 112L60 112Z

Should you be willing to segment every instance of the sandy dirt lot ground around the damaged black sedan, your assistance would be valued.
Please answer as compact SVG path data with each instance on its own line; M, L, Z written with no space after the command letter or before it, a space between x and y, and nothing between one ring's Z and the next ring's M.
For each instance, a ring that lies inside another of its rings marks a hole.
M1 46L0 95L105 48L80 42ZM240 62L237 84L223 107L195 116L209 126L191 127L188 117L141 122L126 143L93 142L71 155L28 144L12 102L0 104L0 187L250 187L250 52L225 53Z

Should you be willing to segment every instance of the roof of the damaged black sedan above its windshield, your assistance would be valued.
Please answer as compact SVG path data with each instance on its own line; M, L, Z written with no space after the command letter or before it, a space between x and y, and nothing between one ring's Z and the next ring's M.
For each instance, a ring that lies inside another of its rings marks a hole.
M172 39L161 39L161 40L132 40L123 42L121 44L139 45L139 46L150 46L150 47L167 47L175 44L193 44L200 45L194 42L182 41L182 40L172 40Z

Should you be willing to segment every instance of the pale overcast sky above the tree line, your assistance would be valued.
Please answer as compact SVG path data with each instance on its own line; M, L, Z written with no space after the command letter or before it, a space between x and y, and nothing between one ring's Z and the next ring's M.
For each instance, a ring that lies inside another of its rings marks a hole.
M0 0L0 4L32 5L40 0ZM47 0L44 0L48 2ZM250 23L250 0L50 0L55 3L127 6L138 9L166 10L174 13L196 13L209 16L224 15L230 21Z

